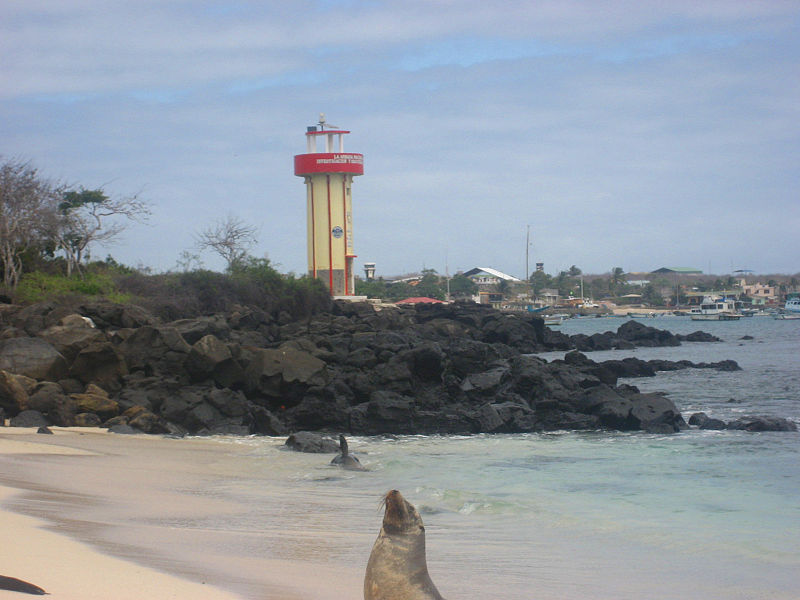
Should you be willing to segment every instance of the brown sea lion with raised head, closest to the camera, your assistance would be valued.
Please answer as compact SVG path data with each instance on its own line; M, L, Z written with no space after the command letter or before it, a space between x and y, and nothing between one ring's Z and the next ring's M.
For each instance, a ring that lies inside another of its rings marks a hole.
M444 600L428 575L425 527L397 490L383 499L383 527L364 576L364 600Z

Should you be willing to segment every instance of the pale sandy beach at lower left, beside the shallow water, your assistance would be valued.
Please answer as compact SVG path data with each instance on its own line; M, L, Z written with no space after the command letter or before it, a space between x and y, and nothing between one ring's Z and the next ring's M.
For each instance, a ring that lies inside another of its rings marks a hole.
M247 532L170 525L236 511L203 494L225 468L214 442L53 431L0 428L0 575L54 600L360 597L361 565L274 558L262 540L237 541Z

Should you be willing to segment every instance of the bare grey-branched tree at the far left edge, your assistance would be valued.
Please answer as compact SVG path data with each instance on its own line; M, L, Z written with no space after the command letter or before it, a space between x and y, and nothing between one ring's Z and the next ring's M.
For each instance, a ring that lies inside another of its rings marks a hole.
M52 222L59 193L30 163L0 165L0 263L7 289L17 287L25 253L46 246L45 225Z

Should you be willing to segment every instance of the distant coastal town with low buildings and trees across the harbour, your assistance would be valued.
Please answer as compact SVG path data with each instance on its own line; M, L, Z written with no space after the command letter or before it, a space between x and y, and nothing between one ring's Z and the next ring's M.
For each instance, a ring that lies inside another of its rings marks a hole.
M526 282L491 267L459 271L452 277L433 270L376 278L375 264L364 266L356 279L356 294L402 304L472 301L502 310L540 310L543 314L616 314L633 316L689 314L705 299L725 298L745 316L779 313L800 296L800 273L757 276L752 272L708 275L699 269L662 267L651 272L626 273L614 268L605 274L584 274L578 267L557 276L543 265ZM642 312L646 311L646 312Z

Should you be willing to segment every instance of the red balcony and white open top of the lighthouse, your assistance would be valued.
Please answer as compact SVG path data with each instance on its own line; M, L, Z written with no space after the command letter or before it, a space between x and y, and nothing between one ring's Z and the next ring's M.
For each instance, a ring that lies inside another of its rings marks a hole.
M331 127L331 129L325 129ZM345 153L342 137L350 133L333 125L327 125L325 115L319 116L319 125L308 127L306 144L308 153L294 157L294 174L303 177L315 173L349 173L364 174L364 155ZM317 140L325 143L325 152L317 152ZM335 148L338 146L338 152Z

